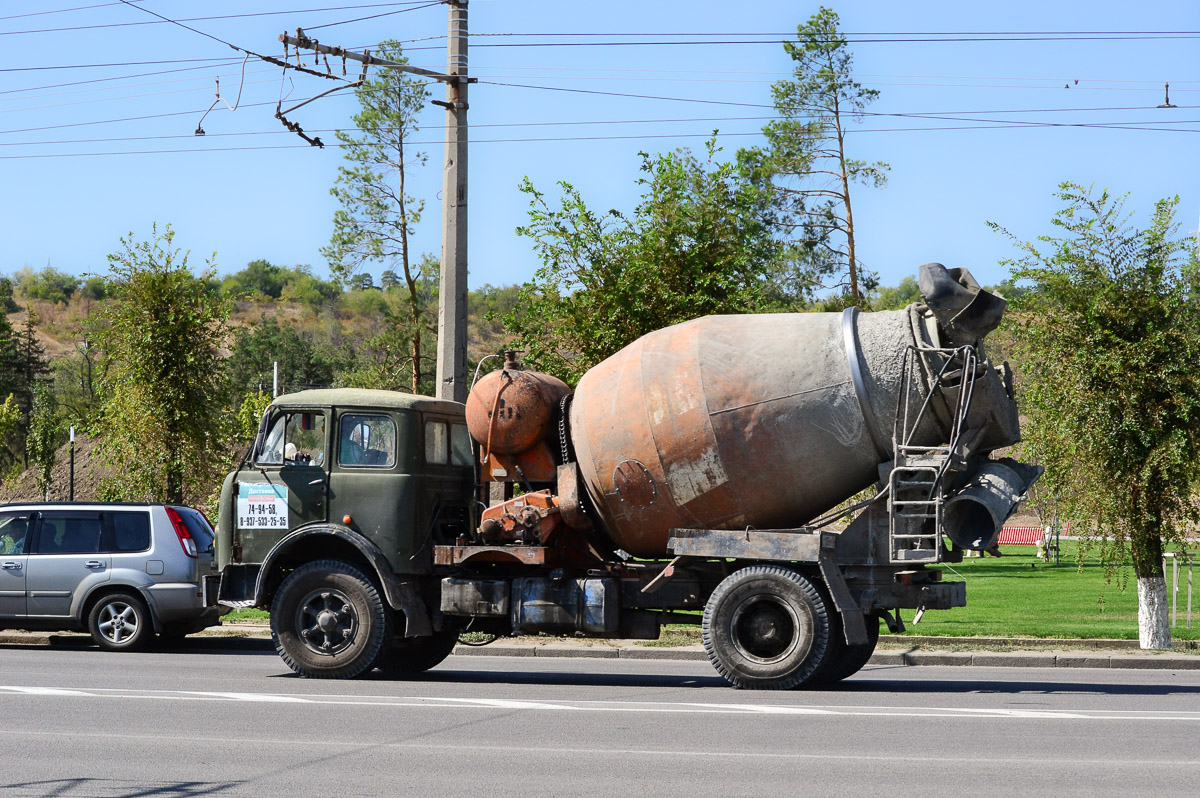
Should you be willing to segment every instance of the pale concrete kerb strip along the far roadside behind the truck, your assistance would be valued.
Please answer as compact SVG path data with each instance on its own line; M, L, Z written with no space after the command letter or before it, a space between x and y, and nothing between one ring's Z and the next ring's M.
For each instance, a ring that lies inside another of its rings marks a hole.
M88 648L91 637L84 634L0 631L0 646L48 646ZM274 652L265 624L223 624L186 638L180 648L204 648L211 652ZM962 650L968 649L968 650ZM995 650L1016 649L1016 650ZM1037 649L1037 650L1028 650ZM1136 641L1118 640L1036 640L1036 638L962 638L905 637L884 635L870 665L882 666L973 666L973 667L1086 667L1164 671L1200 671L1200 652L1174 649L1144 652ZM486 646L458 644L462 656L557 656L629 660L700 660L707 661L703 646L646 646L632 641L512 637Z

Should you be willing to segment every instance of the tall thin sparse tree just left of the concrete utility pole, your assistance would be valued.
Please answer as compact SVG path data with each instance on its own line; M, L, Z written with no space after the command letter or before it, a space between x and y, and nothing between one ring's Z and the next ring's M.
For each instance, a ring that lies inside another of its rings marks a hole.
M397 42L379 46L379 55L407 62ZM343 282L366 263L378 263L403 276L408 288L408 314L403 335L408 338L410 388L420 390L422 342L426 328L420 283L436 262L415 260L409 247L413 226L420 221L424 202L408 193L410 169L426 156L407 146L418 131L416 118L430 92L425 83L400 70L383 70L355 90L361 110L354 115L359 134L338 132L350 166L340 167L330 193L341 209L334 215L334 235L322 253ZM365 288L367 286L364 286Z

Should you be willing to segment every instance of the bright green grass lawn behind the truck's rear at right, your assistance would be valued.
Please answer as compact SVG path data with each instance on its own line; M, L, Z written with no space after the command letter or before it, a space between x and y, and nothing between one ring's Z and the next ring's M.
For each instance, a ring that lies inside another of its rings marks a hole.
M1138 637L1138 586L1126 569L1124 589L1118 578L1105 582L1104 569L1094 559L1082 569L1075 562L1075 545L1063 541L1062 564L1038 560L1033 546L1002 546L1003 557L965 559L943 566L947 582L967 584L967 606L926 612L911 623L910 635L968 637ZM952 570L953 569L953 570ZM1196 575L1200 578L1200 574ZM1166 574L1171 590L1171 574ZM1200 638L1200 582L1193 594L1194 619L1187 628L1187 569L1180 564L1178 624L1176 640Z

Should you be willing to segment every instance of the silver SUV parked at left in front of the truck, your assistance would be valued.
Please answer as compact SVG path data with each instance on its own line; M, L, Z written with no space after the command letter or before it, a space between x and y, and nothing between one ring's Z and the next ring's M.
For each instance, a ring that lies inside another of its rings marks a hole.
M0 505L0 629L88 630L132 650L220 623L212 527L168 504Z

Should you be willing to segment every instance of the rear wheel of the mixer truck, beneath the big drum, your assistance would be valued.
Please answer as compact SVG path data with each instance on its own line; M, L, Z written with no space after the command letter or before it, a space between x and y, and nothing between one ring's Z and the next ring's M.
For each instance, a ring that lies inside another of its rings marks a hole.
M788 690L812 678L824 661L829 612L800 574L751 565L727 576L708 599L704 650L736 688Z

